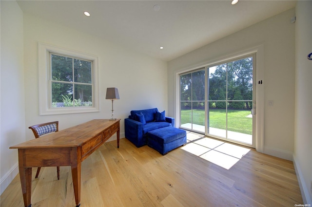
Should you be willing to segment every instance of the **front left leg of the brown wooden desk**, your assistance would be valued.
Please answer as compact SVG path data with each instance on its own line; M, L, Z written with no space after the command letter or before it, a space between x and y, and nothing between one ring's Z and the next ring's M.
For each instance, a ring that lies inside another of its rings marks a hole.
M24 206L31 207L31 168L24 168L23 159L24 150L19 149L19 170L20 170L20 184L24 199Z

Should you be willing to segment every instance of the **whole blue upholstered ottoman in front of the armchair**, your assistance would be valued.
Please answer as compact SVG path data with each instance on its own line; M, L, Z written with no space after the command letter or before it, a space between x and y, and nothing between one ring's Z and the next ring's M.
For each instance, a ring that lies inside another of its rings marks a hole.
M175 127L163 127L147 132L147 145L165 155L186 143L186 132Z

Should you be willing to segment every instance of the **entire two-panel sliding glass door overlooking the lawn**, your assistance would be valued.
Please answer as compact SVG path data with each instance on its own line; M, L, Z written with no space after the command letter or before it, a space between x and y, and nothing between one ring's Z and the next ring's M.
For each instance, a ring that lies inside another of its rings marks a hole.
M251 55L180 75L180 127L254 147L254 65Z

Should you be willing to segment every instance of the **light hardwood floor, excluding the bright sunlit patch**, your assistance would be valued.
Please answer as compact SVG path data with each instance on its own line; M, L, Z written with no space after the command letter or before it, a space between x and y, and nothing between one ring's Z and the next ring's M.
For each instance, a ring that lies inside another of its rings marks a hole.
M75 207L70 167L42 168L32 207ZM23 207L19 175L0 196L1 207ZM162 156L127 139L103 144L82 162L80 207L293 207L302 204L291 161L254 150L232 168L178 148Z

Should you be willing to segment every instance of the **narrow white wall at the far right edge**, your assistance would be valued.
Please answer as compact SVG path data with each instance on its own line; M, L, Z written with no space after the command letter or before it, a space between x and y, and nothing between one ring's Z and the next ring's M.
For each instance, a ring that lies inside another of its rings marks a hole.
M294 164L305 204L312 204L312 1L298 1L295 26Z

